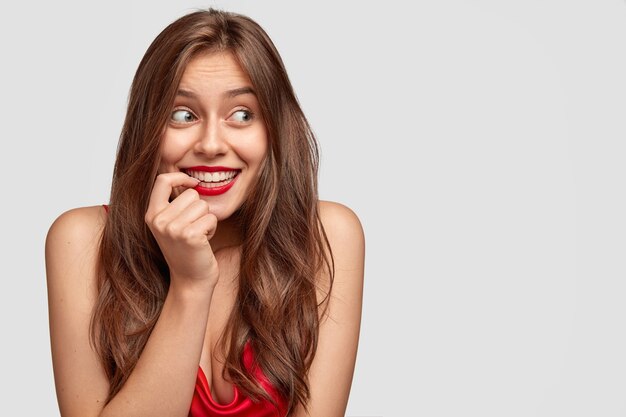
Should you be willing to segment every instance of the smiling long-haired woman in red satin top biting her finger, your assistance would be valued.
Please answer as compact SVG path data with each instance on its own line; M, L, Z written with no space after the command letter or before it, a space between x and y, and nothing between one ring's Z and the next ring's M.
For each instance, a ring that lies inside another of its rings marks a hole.
M169 25L133 80L110 204L48 233L61 415L343 416L364 240L318 201L317 162L256 23Z

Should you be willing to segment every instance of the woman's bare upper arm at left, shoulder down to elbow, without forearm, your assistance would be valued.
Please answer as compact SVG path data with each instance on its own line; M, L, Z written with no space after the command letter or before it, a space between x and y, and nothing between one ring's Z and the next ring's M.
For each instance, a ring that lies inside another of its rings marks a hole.
M109 389L89 345L103 214L101 206L70 210L52 224L46 239L52 362L63 417L97 416Z

